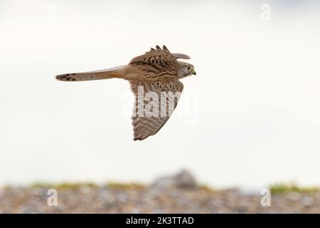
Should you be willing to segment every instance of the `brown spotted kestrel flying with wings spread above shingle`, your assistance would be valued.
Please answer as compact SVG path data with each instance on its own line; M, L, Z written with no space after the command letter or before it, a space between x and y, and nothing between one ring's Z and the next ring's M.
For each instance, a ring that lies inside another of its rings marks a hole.
M66 73L55 76L59 81L89 81L122 78L129 81L136 102L132 125L134 140L144 140L156 134L169 120L183 90L179 81L196 75L193 65L178 58L189 59L181 53L171 53L166 46L151 48L125 66L102 71Z

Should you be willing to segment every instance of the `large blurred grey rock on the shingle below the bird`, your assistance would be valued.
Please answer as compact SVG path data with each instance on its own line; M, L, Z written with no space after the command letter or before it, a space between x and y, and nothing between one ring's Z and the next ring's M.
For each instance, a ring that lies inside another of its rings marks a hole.
M196 179L187 170L182 170L176 175L161 177L151 187L169 189L172 187L194 189L197 187Z

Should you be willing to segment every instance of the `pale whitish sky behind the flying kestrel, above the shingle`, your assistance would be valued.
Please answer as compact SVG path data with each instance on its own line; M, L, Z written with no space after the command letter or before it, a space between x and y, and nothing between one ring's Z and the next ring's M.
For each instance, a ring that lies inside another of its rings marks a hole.
M212 187L319 186L319 11L316 1L0 1L0 185L149 183L187 168ZM191 56L197 76L141 142L124 115L126 81L53 77L123 65L156 44Z

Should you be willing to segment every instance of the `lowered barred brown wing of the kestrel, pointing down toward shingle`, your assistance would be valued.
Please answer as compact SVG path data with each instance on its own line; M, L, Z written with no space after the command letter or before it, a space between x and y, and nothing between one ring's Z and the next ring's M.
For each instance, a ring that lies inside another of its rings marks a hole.
M169 120L183 90L180 81L138 82L131 81L135 95L134 140L144 140L156 134Z

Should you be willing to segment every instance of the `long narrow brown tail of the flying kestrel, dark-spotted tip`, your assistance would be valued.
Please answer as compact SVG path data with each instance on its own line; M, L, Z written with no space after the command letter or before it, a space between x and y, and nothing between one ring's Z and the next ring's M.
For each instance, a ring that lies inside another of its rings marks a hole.
M124 66L118 66L101 71L89 71L82 73L65 73L55 76L58 81L90 81L107 78L123 78Z

